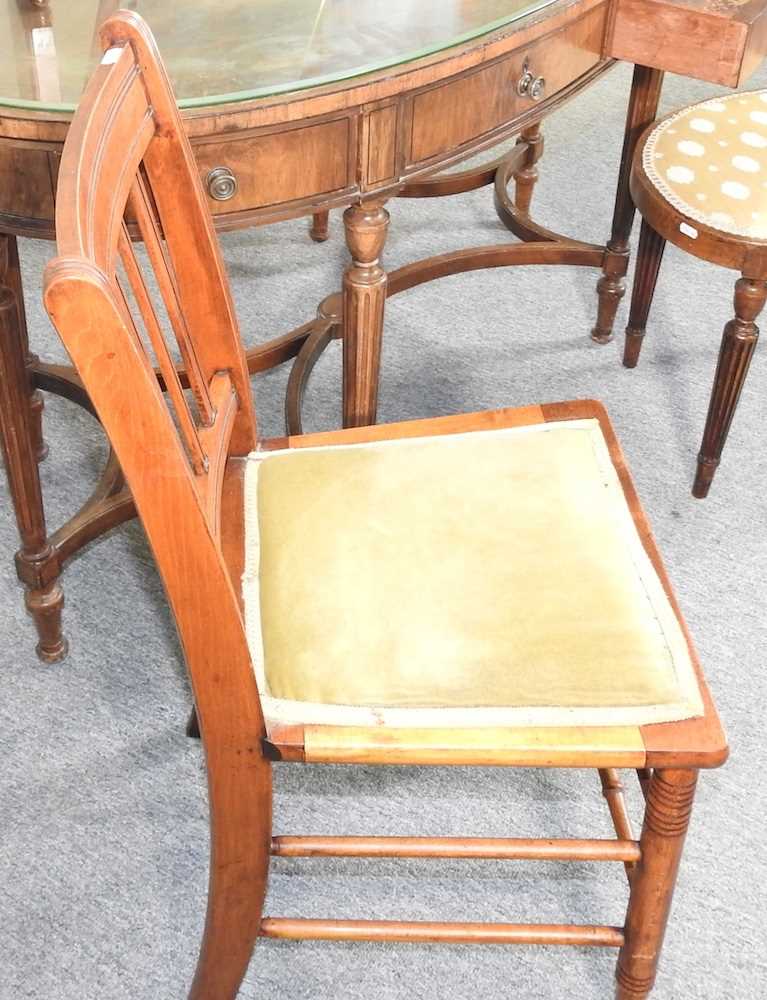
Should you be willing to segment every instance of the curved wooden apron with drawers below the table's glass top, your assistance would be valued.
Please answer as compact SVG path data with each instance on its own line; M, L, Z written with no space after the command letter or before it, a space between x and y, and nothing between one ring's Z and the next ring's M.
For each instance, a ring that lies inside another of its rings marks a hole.
M361 196L389 196L467 159L577 93L612 65L602 55L610 0L556 0L480 39L340 84L184 111L218 229L319 215ZM519 94L529 62L543 94ZM443 114L440 123L432 112ZM3 108L0 229L53 233L53 206L71 114ZM210 171L235 193L217 200Z

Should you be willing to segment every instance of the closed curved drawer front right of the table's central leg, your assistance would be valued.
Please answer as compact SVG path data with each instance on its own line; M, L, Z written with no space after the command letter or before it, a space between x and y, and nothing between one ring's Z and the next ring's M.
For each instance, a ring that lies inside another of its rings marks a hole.
M440 84L412 99L408 166L415 166L476 141L549 100L601 59L607 17L602 4L571 24L515 49L497 62ZM527 65L527 93L518 91ZM534 80L538 84L531 96Z

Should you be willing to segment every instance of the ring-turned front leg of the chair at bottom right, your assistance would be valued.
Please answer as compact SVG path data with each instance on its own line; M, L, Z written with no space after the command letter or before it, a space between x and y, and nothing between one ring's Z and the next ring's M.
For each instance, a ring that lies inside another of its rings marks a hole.
M616 1000L646 1000L655 983L677 870L695 797L695 770L654 771L647 789L642 859L631 880Z

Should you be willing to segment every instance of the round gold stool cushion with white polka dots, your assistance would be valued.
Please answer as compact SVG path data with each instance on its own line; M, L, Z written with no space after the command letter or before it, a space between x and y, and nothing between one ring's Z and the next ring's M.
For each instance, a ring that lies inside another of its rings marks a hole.
M767 240L767 91L718 97L665 118L648 136L642 166L696 222Z

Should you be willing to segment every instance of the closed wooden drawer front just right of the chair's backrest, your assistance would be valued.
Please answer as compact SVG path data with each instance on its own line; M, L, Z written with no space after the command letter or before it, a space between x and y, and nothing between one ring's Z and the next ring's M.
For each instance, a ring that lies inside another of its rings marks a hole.
M192 142L214 215L290 205L355 183L356 122L344 116Z

